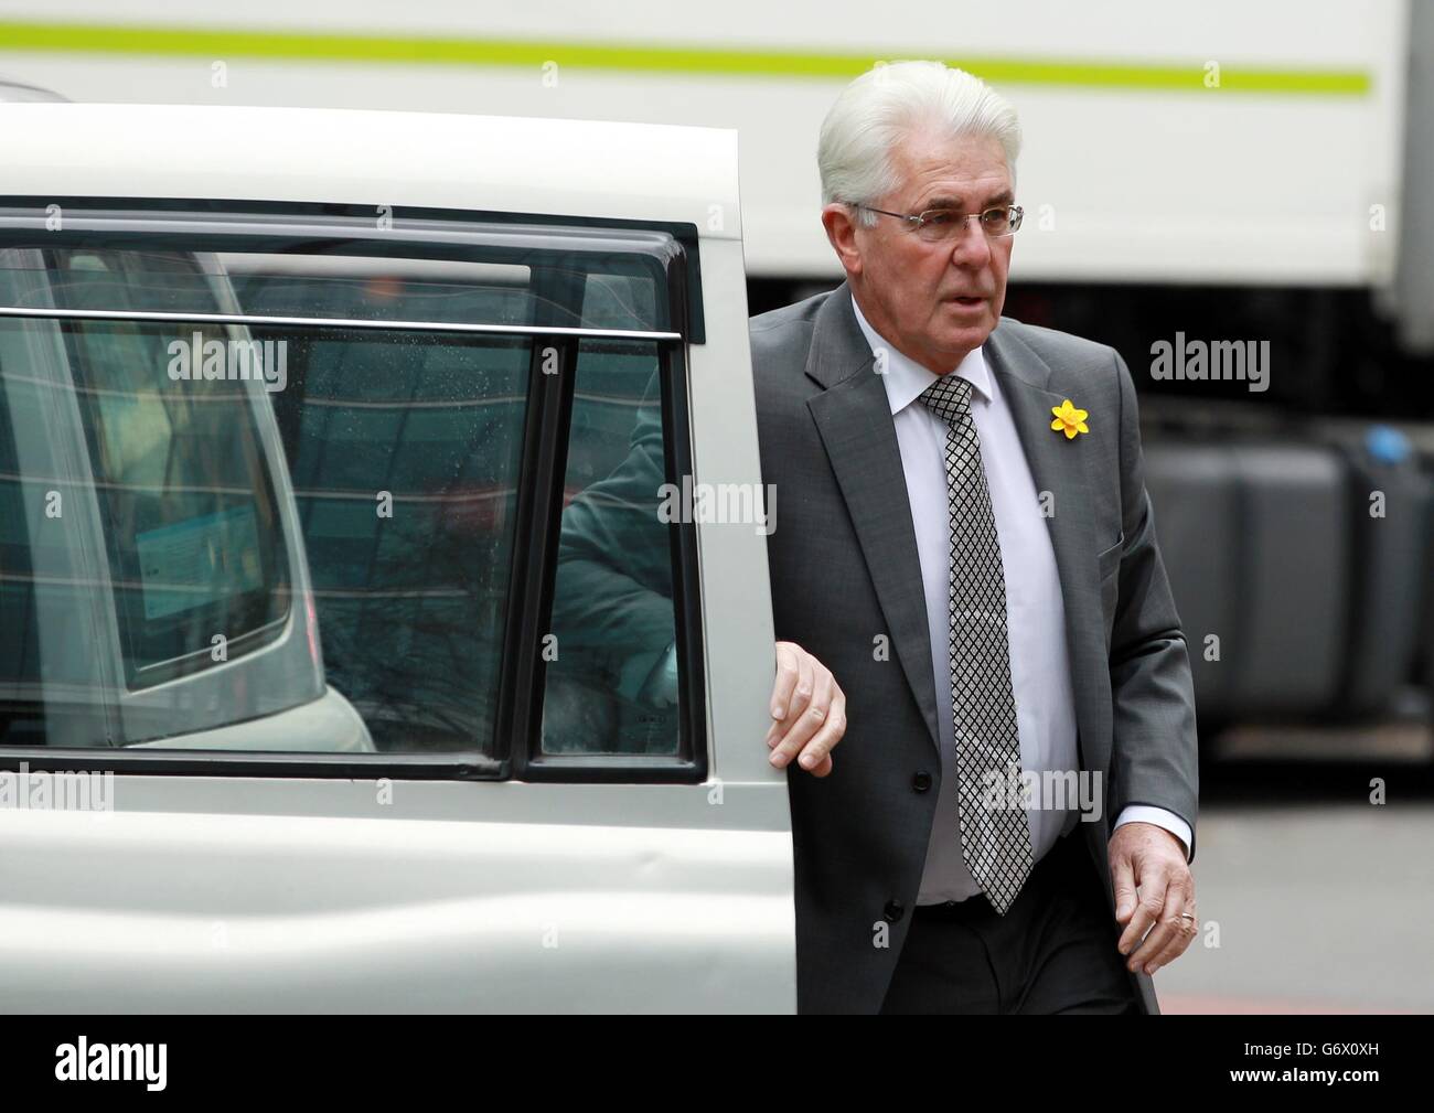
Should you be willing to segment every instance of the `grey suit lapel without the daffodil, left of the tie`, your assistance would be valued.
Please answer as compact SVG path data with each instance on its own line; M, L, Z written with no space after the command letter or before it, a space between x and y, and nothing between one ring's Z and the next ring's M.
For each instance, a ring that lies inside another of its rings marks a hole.
M842 283L817 311L806 373L826 390L807 407L876 585L891 647L926 720L931 744L939 749L926 597L906 473L886 386L872 364L872 349L852 311L850 288Z

